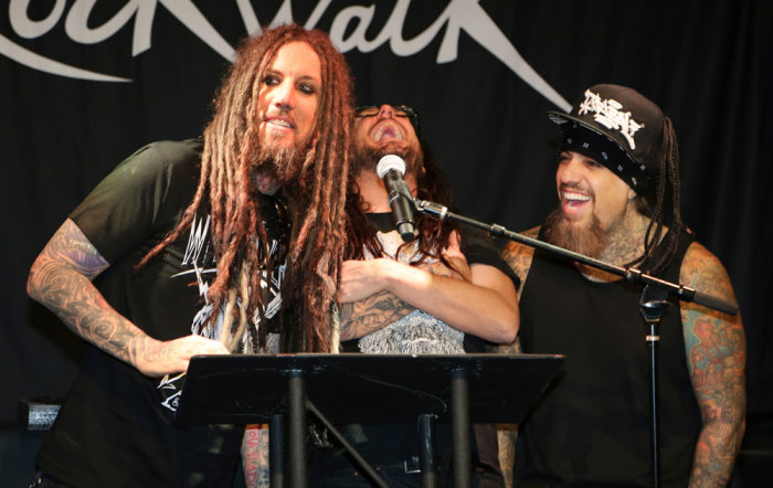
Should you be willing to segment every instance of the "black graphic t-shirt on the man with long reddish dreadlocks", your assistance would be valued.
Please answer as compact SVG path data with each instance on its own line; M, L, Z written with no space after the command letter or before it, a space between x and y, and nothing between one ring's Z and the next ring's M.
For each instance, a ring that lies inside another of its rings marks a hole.
M95 280L103 296L159 340L219 336L216 327L203 328L216 312L205 299L215 276L208 214L197 215L177 242L135 269L192 201L201 149L200 140L141 148L70 215L110 263ZM276 223L272 199L265 198L262 208ZM277 235L273 229L269 236ZM280 284L275 285L280 300ZM144 376L88 347L41 449L41 468L78 487L231 486L242 427L173 425L180 386L181 379Z

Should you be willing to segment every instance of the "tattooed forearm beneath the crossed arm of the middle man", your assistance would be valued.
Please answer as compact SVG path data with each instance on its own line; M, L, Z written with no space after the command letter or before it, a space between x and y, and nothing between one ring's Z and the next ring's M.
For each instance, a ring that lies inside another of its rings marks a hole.
M400 320L415 308L389 291L341 306L341 340L357 339Z

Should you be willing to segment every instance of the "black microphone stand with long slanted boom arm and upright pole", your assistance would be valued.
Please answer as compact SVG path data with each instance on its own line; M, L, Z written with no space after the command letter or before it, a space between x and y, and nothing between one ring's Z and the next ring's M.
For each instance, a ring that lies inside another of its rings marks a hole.
M671 283L665 279L660 279L656 276L643 273L640 269L635 267L623 267L613 264L605 263L600 259L595 259L584 254L575 253L572 251L564 250L563 247L549 244L547 242L528 237L522 234L518 234L512 231L508 231L499 224L487 224L484 222L469 219L467 216L449 212L448 208L441 205L435 202L430 202L426 200L414 199L413 197L406 195L409 200L412 200L416 206L416 210L421 213L430 215L437 220L451 220L454 222L460 222L467 225L472 225L477 229L487 231L490 235L495 237L505 237L510 241L516 241L521 244L526 244L530 247L544 251L549 254L560 256L565 259L578 262L596 269L602 269L617 276L622 276L626 282L633 284L644 285L644 291L642 293L642 299L639 300L639 308L645 321L649 326L649 333L646 337L647 344L649 347L649 370L650 370L650 382L649 382L649 397L650 397L650 416L652 416L652 449L653 449L653 481L655 488L660 486L660 446L659 446L659 411L658 411L658 343L660 340L659 325L660 316L666 307L669 305L667 301L668 295L674 295L677 299L682 301L695 301L698 305L711 308L713 310L719 310L723 314L735 315L738 314L738 305L722 298L713 297L700 291L696 291L693 288L687 287L685 285L679 285L677 283Z

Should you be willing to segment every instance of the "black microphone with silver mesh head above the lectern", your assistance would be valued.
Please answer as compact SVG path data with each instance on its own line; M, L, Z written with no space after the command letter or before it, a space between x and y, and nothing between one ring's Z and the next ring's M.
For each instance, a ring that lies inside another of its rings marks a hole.
M392 209L392 221L398 226L398 232L404 242L411 242L416 237L416 226L413 222L414 201L411 190L407 188L403 174L405 174L405 161L396 155L386 155L375 166L379 178L384 180L384 187L389 193L389 206Z

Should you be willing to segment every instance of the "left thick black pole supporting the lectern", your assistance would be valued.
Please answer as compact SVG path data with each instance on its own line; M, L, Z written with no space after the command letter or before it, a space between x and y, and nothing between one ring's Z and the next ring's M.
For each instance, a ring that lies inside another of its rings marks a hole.
M289 423L289 485L305 487L308 481L306 463L306 382L300 370L290 370L287 382Z

